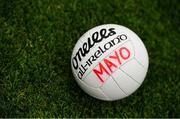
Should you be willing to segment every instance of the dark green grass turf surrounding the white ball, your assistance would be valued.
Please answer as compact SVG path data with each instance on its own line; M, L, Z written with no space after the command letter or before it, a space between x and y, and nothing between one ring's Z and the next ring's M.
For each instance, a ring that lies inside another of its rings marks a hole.
M0 117L180 117L178 0L0 0ZM135 31L150 64L128 98L85 94L70 56L90 28L115 23Z

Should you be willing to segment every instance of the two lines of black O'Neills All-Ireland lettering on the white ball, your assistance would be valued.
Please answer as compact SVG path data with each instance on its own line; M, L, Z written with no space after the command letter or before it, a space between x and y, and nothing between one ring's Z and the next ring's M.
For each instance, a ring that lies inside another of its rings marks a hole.
M100 31L96 31L92 34L92 36L87 38L87 42L84 42L82 47L78 49L78 51L75 53L75 56L72 57L72 65L75 70L78 70L78 78L82 79L85 72L88 70L88 68L92 65L94 61L96 61L101 55L103 55L107 50L109 50L114 45L119 44L121 41L124 41L127 39L127 36L125 34L120 34L114 39L110 40L109 42L105 43L103 46L99 46L97 50L90 56L85 64L80 64L83 57L85 57L91 48L96 44L101 42L102 40L115 35L115 28L109 28L109 29L101 29Z

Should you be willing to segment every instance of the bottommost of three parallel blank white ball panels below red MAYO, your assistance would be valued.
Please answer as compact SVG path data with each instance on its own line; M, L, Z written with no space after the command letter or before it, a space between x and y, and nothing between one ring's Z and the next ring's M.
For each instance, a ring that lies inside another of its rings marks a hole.
M111 77L107 79L100 89L110 98L110 100L117 100L126 97L126 94L119 88Z

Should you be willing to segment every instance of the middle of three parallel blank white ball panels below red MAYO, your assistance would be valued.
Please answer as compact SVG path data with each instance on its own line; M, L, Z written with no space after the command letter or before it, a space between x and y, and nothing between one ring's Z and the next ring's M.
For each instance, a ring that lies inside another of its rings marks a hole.
M121 70L116 70L112 74L112 77L127 95L132 94L140 86L139 83L134 81Z

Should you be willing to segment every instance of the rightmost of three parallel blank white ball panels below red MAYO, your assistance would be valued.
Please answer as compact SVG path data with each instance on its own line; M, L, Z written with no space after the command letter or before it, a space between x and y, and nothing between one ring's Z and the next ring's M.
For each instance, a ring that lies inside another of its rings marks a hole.
M142 67L135 59L127 62L120 67L120 69L139 84L143 82L147 71L147 69Z

